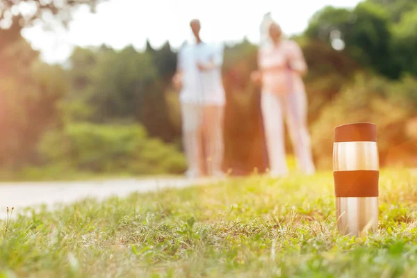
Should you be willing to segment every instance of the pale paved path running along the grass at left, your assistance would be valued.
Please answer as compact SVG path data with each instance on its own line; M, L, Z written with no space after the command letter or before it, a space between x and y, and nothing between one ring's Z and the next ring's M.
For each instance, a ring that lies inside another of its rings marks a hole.
M213 182L215 180L148 178L0 183L0 218L6 217L6 206L9 208L14 206L15 212L19 213L26 206L38 206L41 204L52 206L57 203L70 204L88 197L97 199L106 199L115 195L125 197L133 192L145 193L163 188L183 188Z

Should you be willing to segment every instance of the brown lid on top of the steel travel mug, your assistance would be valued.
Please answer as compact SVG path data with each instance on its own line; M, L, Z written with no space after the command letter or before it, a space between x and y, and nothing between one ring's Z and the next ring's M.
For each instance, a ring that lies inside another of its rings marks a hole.
M370 122L343 124L334 129L334 142L377 142L377 126Z

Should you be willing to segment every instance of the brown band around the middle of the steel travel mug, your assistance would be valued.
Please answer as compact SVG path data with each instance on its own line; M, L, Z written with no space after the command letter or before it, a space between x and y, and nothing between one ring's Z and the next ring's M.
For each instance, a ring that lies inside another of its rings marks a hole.
M379 171L335 171L333 177L336 197L379 196Z

